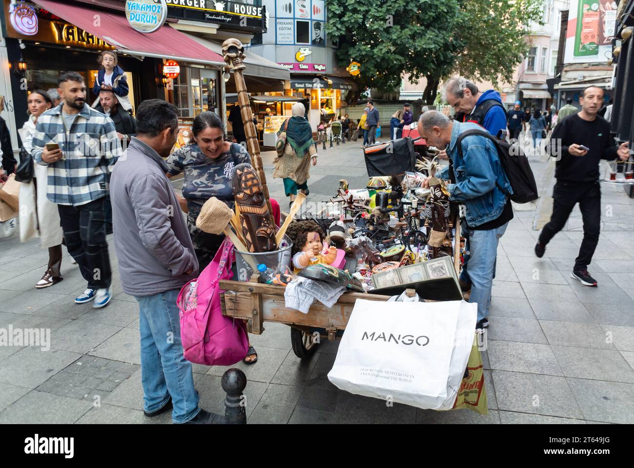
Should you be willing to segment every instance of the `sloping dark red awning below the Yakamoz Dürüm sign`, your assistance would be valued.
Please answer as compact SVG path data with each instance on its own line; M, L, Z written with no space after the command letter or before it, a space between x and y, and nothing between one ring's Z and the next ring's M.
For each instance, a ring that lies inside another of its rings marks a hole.
M221 55L167 25L150 34L143 34L129 25L125 15L115 11L91 10L87 6L54 0L33 1L53 15L103 39L120 53L168 58L181 62L225 65ZM95 15L100 16L98 26L94 25Z

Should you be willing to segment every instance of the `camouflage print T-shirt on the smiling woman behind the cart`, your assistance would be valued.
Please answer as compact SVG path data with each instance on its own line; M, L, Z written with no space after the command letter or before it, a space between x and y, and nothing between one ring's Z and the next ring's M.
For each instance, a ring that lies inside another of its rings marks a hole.
M243 162L251 163L247 150L238 143L216 159L208 158L196 143L184 146L167 158L168 174L176 176L183 172L183 197L189 208L188 220L198 218L202 205L210 197L223 200L233 207L233 168Z

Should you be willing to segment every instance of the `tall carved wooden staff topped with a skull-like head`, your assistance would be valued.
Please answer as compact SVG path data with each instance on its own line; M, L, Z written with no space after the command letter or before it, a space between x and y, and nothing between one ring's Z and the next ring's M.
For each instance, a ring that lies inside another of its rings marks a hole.
M240 115L242 115L242 123L244 124L244 131L247 135L247 148L251 155L251 162L257 172L257 177L260 179L262 185L262 191L264 192L264 198L266 198L266 205L269 209L269 213L273 213L271 208L271 200L269 200L269 188L266 185L266 176L264 176L264 168L262 167L262 157L260 156L260 145L257 142L256 125L253 123L253 112L249 104L249 94L247 94L247 85L244 82L242 70L247 68L244 64L244 46L238 39L227 39L223 42L223 57L224 62L231 70L233 70L233 76L235 77L236 89L238 91L238 104L240 105Z

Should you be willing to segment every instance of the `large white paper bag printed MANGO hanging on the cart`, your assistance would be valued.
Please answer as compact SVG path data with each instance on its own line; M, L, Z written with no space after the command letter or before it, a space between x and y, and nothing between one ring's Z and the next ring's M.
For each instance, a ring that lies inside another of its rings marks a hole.
M328 380L354 394L450 409L467 367L476 318L477 305L464 301L386 306L358 299ZM467 328L470 339L464 340Z

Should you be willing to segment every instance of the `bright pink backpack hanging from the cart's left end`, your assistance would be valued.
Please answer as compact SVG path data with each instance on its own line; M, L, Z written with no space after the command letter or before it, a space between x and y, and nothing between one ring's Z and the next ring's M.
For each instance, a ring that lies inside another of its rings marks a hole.
M220 307L220 280L230 280L233 244L225 238L214 260L181 289L181 341L185 359L197 364L230 366L247 356L249 337L242 320L226 317Z

